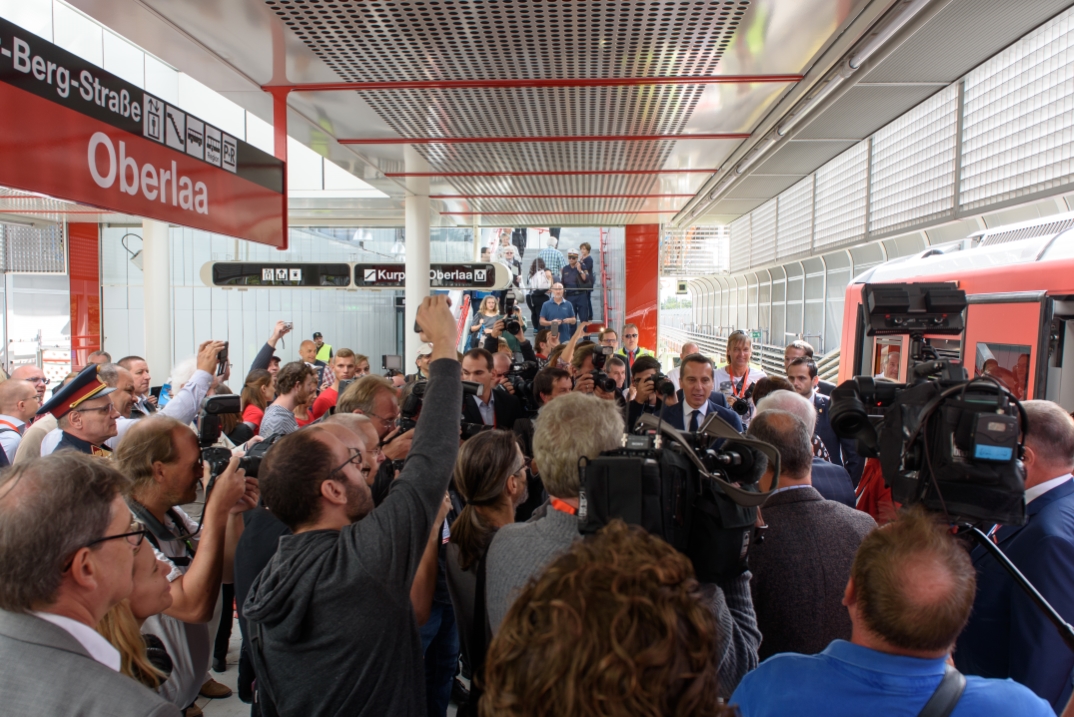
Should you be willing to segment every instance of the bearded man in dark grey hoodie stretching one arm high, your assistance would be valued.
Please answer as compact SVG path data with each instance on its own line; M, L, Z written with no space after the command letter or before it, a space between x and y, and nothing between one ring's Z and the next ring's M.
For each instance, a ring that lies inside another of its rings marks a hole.
M261 468L264 504L293 535L279 539L243 615L260 698L280 715L425 714L410 585L454 467L463 394L447 299L426 298L417 321L433 343L424 409L376 510L361 454L324 428L285 437Z

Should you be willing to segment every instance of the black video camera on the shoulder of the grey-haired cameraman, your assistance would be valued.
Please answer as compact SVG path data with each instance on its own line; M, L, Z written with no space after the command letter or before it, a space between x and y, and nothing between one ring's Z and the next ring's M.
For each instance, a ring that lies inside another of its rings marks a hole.
M775 485L779 452L714 414L696 434L645 414L619 449L579 460L579 530L591 535L620 518L686 555L699 581L734 577L746 569L769 467Z

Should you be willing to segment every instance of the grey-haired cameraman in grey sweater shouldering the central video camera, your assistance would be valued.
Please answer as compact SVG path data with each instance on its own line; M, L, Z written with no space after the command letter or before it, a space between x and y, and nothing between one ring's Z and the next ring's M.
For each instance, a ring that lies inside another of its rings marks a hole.
M571 393L541 409L534 433L534 463L550 496L548 511L529 523L506 525L489 547L487 605L493 632L516 595L534 575L570 548L578 532L578 460L620 447L623 415L614 401ZM729 697L742 676L757 667L760 632L750 596L750 573L702 586L716 618L720 691Z

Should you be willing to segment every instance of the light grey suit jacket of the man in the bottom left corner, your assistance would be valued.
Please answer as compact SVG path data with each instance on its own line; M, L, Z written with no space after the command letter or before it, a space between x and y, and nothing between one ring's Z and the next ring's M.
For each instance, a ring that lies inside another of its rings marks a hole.
M178 717L179 708L113 672L61 627L0 610L0 712L5 715Z

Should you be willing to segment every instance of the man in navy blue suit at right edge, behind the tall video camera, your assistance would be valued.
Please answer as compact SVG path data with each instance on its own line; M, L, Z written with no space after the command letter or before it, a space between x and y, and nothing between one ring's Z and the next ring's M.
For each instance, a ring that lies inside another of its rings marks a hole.
M1022 403L1026 435L1026 524L1003 526L992 539L1044 599L1074 620L1074 421L1047 400ZM974 548L977 597L958 639L955 664L967 674L1011 677L1051 703L1071 697L1074 652L1006 570Z

